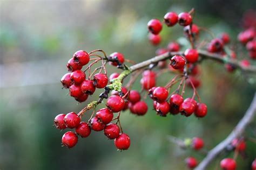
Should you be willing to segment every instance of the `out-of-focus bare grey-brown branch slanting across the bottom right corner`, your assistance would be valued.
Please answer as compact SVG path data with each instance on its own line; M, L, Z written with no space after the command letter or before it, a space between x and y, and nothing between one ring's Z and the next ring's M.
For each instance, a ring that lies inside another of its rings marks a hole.
M256 93L254 94L253 101L250 107L247 109L244 117L239 121L237 126L233 129L233 131L228 135L228 137L221 141L217 146L215 146L210 152L208 152L207 156L203 161L195 168L195 170L204 170L206 167L216 158L222 151L225 150L227 145L231 143L231 141L235 138L238 138L246 129L246 126L250 124L253 117L256 114Z

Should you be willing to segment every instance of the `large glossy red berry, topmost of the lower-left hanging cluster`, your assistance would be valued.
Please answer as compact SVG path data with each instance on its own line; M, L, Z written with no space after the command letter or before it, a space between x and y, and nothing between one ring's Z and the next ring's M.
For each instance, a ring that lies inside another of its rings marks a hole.
M113 95L107 100L106 106L113 112L119 112L124 109L125 101L122 97Z

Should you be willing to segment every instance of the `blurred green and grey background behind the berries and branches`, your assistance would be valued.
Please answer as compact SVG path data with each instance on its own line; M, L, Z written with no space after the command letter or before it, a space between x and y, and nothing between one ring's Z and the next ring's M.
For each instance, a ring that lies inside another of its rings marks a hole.
M237 43L242 16L255 10L256 2L0 0L0 169L186 169L186 157L203 159L197 152L181 150L168 136L198 136L204 138L207 149L214 147L237 124L256 89L255 79L240 72L228 74L223 65L213 61L203 62L200 75L203 85L199 94L208 105L208 115L203 119L159 117L151 109L152 102L146 100L150 109L145 116L128 111L122 114L123 129L131 137L127 151L116 151L103 132L79 138L77 146L69 150L60 146L65 131L52 127L57 114L78 112L87 104L77 104L59 82L74 52L100 48L107 54L122 52L137 62L149 59L158 47L147 40L147 22L170 10L189 11L192 7L196 24L208 27L216 36L228 32ZM180 26L164 27L161 36L159 47L184 37ZM207 33L201 37L210 40ZM245 51L239 51L238 58L247 58ZM116 70L109 67L109 73ZM165 74L158 84L171 77ZM139 82L133 87L140 90ZM186 94L190 96L192 91ZM255 138L255 119L246 134ZM221 155L209 169L215 169L224 157L233 157L233 153ZM239 156L238 169L250 169L255 157L255 143L247 141L246 158Z

